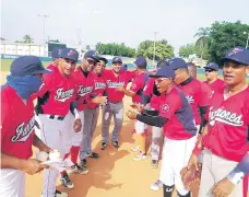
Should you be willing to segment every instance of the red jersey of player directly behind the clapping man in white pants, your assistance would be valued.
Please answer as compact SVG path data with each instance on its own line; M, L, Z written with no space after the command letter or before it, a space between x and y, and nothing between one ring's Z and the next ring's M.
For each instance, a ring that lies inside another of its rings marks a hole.
M195 124L200 125L201 117L199 115L199 107L210 105L210 99L212 95L211 89L209 85L193 78L189 78L186 82L178 85L178 88L185 93L187 100L192 106Z

